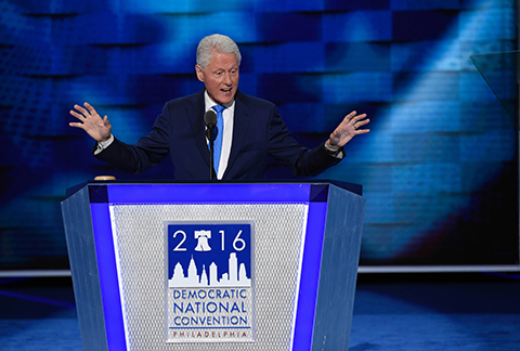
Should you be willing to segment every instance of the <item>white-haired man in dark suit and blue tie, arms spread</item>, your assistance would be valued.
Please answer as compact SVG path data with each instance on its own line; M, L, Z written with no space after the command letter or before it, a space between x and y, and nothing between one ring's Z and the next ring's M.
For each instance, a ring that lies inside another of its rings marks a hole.
M165 104L152 131L138 143L128 145L112 134L107 116L101 118L88 103L75 105L70 114L98 141L94 155L126 172L142 172L167 155L179 180L209 179L210 154L204 115L210 109L221 119L217 126L222 140L216 153L218 179L262 179L269 156L287 167L295 176L314 177L338 164L344 156L343 145L353 136L368 132L366 115L352 112L330 138L309 150L290 135L276 106L238 90L240 53L229 37L204 38L197 49L197 78L205 89L196 94Z

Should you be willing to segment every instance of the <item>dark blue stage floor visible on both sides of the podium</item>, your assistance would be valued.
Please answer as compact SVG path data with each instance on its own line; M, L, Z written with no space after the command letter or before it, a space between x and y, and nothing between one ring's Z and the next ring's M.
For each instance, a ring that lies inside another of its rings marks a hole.
M519 278L361 274L349 350L520 350ZM0 350L81 350L69 278L3 278L0 307Z

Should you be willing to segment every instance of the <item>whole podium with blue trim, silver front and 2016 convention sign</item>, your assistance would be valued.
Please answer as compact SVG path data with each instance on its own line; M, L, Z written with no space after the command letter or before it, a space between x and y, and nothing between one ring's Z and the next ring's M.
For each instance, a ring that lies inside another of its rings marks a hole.
M83 350L348 350L364 207L330 181L69 190Z

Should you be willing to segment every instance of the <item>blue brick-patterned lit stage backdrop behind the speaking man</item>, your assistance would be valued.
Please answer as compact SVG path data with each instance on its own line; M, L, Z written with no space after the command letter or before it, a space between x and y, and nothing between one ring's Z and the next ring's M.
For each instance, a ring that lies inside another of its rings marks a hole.
M4 0L0 18L1 270L68 268L67 187L172 178L166 160L139 176L101 164L68 112L87 101L135 142L203 88L195 50L214 32L242 49L240 89L300 142L369 115L321 177L364 185L362 265L518 264L517 132L469 60L517 49L512 0Z

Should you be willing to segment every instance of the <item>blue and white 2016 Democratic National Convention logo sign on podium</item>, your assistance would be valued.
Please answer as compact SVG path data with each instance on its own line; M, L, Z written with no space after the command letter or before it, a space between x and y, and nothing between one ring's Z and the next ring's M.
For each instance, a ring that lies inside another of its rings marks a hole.
M167 341L253 341L251 223L165 223Z

